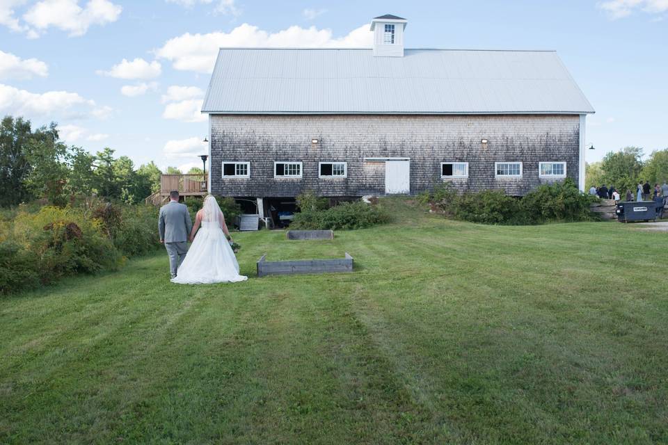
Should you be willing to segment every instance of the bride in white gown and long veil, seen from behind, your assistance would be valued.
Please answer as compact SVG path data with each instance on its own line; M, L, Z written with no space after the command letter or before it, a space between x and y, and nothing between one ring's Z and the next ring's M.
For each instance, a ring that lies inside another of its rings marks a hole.
M218 207L216 198L209 195L195 217L195 224L190 234L190 241L193 244L172 282L209 284L248 280L248 277L239 275L237 257L234 257L226 238L232 241L228 226L225 225L225 216Z

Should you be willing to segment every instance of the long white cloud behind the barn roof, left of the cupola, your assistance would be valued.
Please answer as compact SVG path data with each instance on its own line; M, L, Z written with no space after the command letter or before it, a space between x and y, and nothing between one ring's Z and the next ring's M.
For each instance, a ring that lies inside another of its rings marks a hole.
M229 33L185 33L167 40L155 54L158 58L170 60L176 70L210 73L214 68L219 47L351 48L371 47L372 42L373 35L366 24L353 29L342 38L334 38L331 29L317 29L315 26L290 26L282 31L269 33L244 23Z

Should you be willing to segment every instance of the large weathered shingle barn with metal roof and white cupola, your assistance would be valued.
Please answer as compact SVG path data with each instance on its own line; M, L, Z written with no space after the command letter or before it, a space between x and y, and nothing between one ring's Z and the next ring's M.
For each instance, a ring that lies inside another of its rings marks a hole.
M408 49L407 24L372 19L369 49L221 48L202 106L210 191L262 216L303 191L584 188L594 109L555 51Z

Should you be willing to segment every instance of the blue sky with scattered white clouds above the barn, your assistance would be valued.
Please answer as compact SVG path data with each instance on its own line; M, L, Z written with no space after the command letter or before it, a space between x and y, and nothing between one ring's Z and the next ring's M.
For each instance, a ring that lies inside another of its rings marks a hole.
M557 50L596 108L587 161L668 147L668 0L0 0L0 114L55 120L90 152L200 165L217 47L369 46L385 13L408 19L406 47Z

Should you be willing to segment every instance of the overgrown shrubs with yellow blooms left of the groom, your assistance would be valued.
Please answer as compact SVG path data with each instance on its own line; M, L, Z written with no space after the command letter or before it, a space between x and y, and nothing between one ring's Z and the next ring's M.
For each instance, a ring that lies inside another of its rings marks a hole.
M0 212L0 294L77 273L113 270L159 247L158 209L86 198Z

